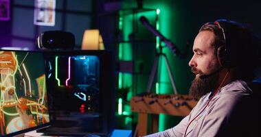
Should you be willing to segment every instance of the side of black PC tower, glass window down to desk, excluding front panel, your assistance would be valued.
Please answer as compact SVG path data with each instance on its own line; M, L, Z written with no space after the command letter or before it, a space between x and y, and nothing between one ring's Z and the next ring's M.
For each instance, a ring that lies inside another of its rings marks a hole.
M43 132L45 134L101 132L99 57L58 54L60 55L52 53L46 55L52 126Z

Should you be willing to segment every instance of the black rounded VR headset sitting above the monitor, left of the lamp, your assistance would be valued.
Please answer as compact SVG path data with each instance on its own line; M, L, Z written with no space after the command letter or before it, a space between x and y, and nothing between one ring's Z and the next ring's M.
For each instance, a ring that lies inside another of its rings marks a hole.
M75 37L71 32L48 31L36 38L39 49L73 49Z

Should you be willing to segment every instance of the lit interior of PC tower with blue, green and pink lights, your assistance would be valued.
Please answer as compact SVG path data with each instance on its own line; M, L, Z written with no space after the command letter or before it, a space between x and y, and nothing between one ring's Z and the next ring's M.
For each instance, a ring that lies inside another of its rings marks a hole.
M47 61L49 89L56 102L55 110L98 112L99 59L95 55L60 55ZM63 101L70 101L65 106Z

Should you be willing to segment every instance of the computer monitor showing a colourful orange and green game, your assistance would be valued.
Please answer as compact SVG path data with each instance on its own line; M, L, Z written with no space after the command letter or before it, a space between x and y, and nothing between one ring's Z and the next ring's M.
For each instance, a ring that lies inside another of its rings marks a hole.
M41 52L0 50L0 136L49 125Z

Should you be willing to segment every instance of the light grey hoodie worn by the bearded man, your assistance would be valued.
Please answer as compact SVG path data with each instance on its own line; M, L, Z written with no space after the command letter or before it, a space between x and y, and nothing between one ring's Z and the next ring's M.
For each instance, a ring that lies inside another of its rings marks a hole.
M209 101L210 93L201 97L190 114L178 125L146 137L183 137L188 123L203 110ZM255 116L253 114L255 112L253 110L258 110L258 108L253 108L251 97L252 90L246 82L236 80L227 84L218 91L207 108L190 124L185 137L254 136Z

